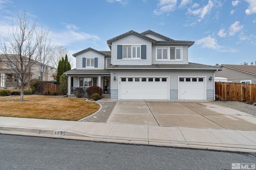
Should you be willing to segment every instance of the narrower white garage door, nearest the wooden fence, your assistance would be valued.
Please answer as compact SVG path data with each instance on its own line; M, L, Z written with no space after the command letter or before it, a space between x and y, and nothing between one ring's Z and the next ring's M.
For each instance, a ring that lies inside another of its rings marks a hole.
M179 79L179 100L206 100L205 78Z

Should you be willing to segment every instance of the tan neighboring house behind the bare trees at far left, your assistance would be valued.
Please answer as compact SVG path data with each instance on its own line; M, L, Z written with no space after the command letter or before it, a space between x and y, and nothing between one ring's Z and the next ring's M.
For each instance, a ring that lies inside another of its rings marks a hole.
M12 57L10 55L9 57ZM16 78L15 78L15 72L10 68L10 62L6 58L5 55L0 55L0 88L11 88L11 87L16 87ZM57 70L54 67L45 65L45 64L40 64L38 62L34 62L32 65L32 68L30 70L30 79L41 79L40 76L40 69L44 67L45 73L43 77L43 81L51 81L56 79L57 75ZM28 80L27 80L28 81Z

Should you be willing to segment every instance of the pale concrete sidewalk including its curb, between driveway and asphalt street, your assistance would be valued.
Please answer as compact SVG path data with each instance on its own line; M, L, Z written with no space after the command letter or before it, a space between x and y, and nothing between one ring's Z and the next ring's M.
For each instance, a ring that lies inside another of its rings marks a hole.
M256 152L256 131L0 117L0 133Z

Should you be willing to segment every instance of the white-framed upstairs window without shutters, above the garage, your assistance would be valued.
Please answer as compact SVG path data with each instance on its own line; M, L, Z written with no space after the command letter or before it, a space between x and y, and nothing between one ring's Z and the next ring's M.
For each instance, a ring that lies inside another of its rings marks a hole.
M156 61L182 61L182 46L156 47Z

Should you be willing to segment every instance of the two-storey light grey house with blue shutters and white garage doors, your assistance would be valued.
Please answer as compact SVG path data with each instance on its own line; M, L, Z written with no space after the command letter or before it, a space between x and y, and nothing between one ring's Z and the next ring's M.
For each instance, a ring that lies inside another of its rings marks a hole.
M112 100L214 100L214 72L221 68L188 62L194 41L148 30L128 31L107 44L111 56L92 48L73 55L76 69L64 73L68 95L76 87L104 89L106 80Z

